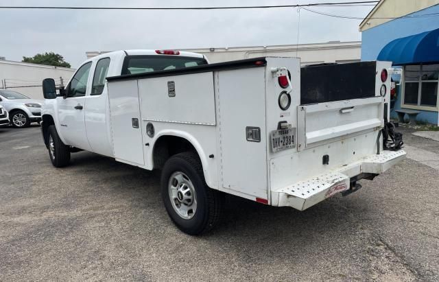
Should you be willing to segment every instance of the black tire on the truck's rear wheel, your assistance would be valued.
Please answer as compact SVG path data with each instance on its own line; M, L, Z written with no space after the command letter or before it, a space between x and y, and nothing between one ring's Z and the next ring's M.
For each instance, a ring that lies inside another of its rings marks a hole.
M179 172L189 178L195 190L196 211L190 219L178 214L169 196L170 178ZM196 154L183 152L171 156L163 167L161 188L166 211L181 231L189 235L200 235L210 231L219 222L224 207L224 194L206 185L200 158Z

